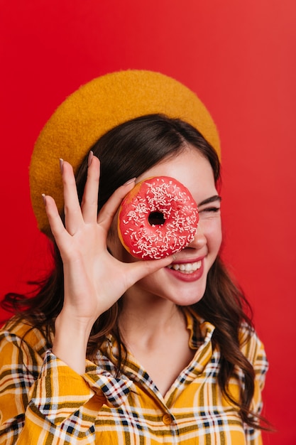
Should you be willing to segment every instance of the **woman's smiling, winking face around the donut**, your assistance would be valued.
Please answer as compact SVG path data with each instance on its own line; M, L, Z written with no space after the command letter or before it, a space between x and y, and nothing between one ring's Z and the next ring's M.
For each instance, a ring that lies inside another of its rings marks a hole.
M184 184L199 209L199 224L194 240L175 254L169 267L148 275L126 292L128 298L162 298L180 306L194 304L204 295L207 274L221 246L220 198L216 191L212 167L192 146L172 159L153 166L136 182L151 176L171 176ZM109 249L123 262L141 261L129 254L117 235L117 221L109 236ZM184 270L183 270L184 269Z

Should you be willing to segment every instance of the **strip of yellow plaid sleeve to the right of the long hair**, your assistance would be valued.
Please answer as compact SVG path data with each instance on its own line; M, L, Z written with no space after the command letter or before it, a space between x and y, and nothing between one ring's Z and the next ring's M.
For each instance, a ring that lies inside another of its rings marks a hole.
M268 371L268 360L266 358L263 343L253 333L250 343L247 345L247 357L251 361L255 371L255 391L251 409L255 414L260 415L263 409L262 390L265 385L265 375ZM261 445L262 437L260 429L253 429L246 426L246 443L248 445Z

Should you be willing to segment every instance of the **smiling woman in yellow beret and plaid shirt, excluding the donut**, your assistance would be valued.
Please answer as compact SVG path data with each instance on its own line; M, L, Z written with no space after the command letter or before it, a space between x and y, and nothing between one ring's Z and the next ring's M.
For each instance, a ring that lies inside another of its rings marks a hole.
M31 195L39 227L53 239L55 268L33 298L4 299L15 315L0 337L0 444L261 444L267 362L246 299L219 258L212 118L192 92L158 73L104 76L107 90L101 79L62 104L34 151ZM93 90L111 124L92 127L89 144L89 122L75 119L77 109L82 119L88 110L101 125L85 100ZM121 96L124 118L114 125ZM52 134L65 158L60 172L57 159L48 167ZM121 244L117 213L152 176L187 187L199 224L187 247L144 261Z

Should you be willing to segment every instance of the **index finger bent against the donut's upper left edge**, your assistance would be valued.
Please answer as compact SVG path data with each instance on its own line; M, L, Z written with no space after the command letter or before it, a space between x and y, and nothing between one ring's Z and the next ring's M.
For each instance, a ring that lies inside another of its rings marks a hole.
M104 227L106 231L111 227L111 223L124 196L135 186L135 181L136 178L130 179L123 186L117 188L100 210L97 222Z

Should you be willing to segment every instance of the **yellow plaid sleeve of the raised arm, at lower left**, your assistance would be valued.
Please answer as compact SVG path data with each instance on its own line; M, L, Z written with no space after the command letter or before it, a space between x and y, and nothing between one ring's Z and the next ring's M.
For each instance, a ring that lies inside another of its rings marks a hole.
M119 406L131 382L86 360L79 375L50 350L41 359L11 333L0 338L0 444L94 444L103 404Z

